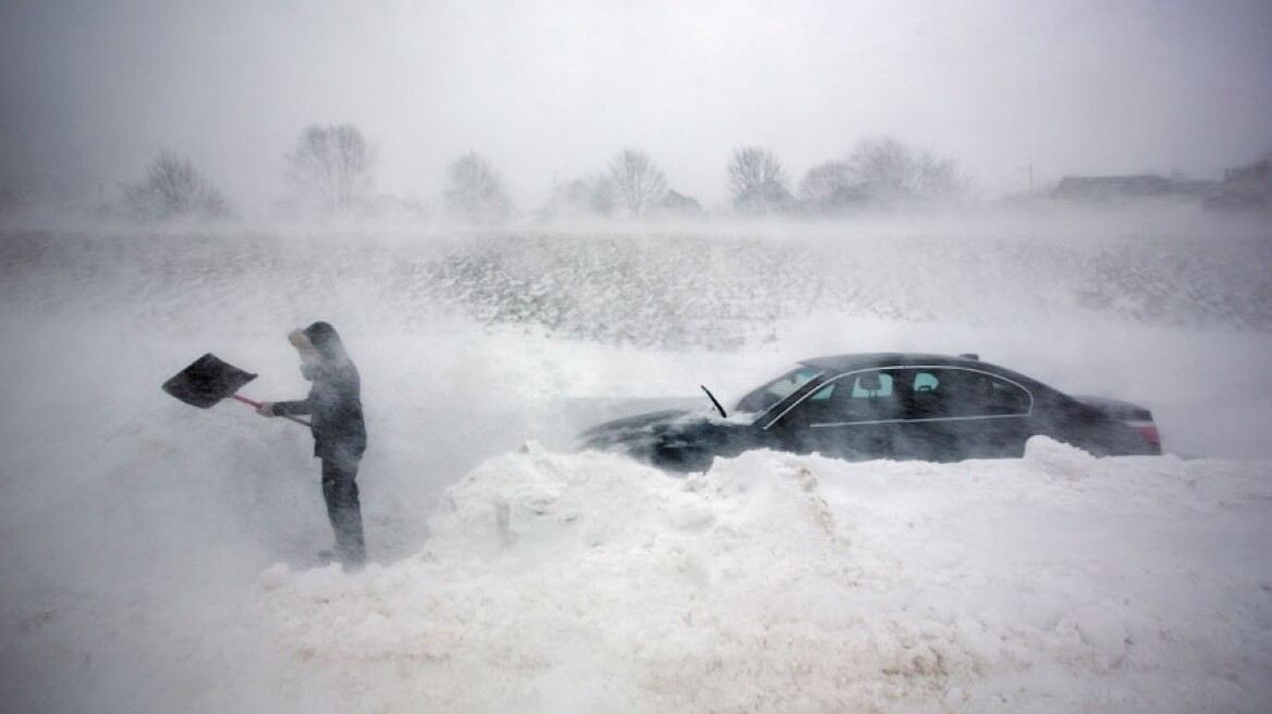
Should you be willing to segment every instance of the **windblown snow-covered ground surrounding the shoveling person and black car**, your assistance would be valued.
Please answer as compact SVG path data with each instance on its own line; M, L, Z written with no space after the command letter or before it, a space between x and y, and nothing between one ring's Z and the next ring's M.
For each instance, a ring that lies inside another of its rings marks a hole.
M1269 711L1269 268L1188 213L0 232L3 709ZM211 351L299 396L315 319L364 377L352 576L304 429L159 390ZM1170 454L567 450L880 349L1144 403Z

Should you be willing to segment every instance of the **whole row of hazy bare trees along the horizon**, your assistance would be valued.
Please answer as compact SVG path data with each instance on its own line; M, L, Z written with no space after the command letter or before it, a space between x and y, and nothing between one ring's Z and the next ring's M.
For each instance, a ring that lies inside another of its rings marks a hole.
M313 125L284 156L282 208L307 216L375 211L377 156L354 125ZM840 215L915 210L964 198L969 182L953 159L890 137L865 138L845 156L810 168L791 184L778 158L761 146L733 151L725 166L731 210L742 215ZM443 207L452 220L496 225L514 216L500 173L469 151L446 169ZM224 193L188 159L162 150L145 177L122 187L121 211L139 221L223 219ZM553 187L543 217L642 217L701 213L697 199L670 188L645 151L622 149L595 173Z

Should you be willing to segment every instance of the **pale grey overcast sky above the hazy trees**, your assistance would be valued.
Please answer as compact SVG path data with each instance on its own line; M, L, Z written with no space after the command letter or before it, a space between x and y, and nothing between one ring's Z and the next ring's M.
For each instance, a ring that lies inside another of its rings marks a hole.
M265 207L351 122L424 201L469 150L533 207L627 146L712 206L736 146L794 188L879 135L992 196L1272 150L1272 3L0 0L0 180L107 194L167 147Z

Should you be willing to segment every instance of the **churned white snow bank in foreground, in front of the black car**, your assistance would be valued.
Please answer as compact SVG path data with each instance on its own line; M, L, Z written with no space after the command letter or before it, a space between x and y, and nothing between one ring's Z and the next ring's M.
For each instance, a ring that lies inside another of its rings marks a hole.
M1268 475L1035 440L673 479L529 445L446 490L417 558L270 569L254 626L349 710L1255 711Z

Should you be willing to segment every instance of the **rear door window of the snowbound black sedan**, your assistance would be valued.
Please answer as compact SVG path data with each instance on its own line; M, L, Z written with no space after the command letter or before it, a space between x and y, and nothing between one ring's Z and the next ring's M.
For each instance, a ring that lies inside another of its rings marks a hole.
M916 419L1028 414L1024 387L974 370L913 370L911 415Z

